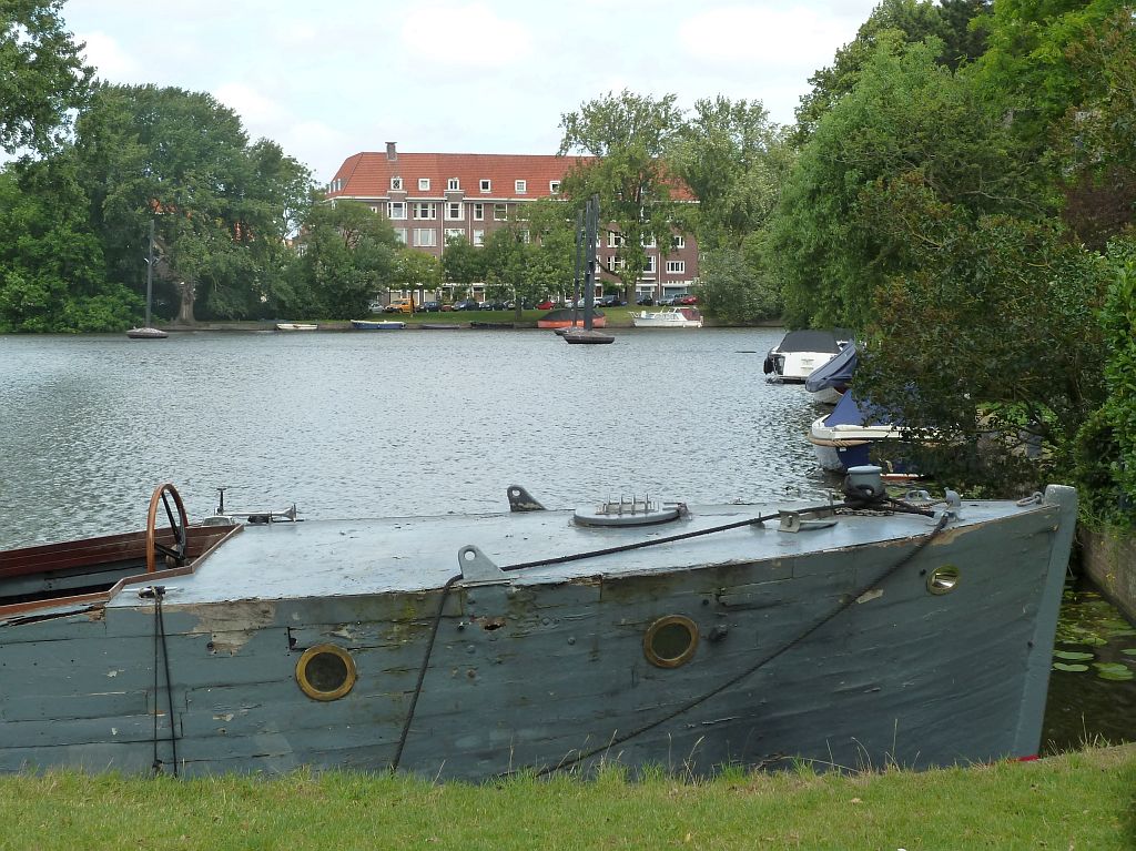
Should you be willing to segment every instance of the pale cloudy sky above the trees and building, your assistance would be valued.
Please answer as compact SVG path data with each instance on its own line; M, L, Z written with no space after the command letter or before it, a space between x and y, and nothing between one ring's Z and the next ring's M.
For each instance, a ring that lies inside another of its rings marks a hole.
M359 151L556 153L563 115L627 89L793 122L878 0L68 0L110 83L208 92L320 183Z

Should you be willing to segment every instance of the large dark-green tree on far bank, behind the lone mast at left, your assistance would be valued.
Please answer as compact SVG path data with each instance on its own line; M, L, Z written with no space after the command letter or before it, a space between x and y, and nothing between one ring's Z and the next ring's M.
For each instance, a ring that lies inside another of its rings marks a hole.
M235 112L181 89L103 85L76 134L108 277L144 278L152 218L158 283L173 291L179 322L259 310L307 203L306 168L273 142L250 145Z

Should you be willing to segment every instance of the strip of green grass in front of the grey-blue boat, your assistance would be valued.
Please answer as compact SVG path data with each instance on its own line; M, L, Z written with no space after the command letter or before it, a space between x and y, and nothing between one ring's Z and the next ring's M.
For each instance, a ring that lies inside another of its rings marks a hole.
M0 849L1136 848L1136 745L878 775L0 781Z

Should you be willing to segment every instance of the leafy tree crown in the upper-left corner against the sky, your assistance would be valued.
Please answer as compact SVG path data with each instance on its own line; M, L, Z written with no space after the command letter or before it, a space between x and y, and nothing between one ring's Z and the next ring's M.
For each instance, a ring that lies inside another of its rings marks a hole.
M66 139L73 110L86 100L92 68L72 41L62 0L0 5L0 148L47 155Z

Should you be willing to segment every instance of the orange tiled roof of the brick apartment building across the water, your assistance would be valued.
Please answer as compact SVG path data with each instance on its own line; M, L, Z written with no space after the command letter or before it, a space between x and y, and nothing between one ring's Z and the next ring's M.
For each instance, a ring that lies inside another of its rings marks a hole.
M449 181L458 178L458 186L467 201L532 200L552 194L550 184L563 178L570 167L591 157L524 153L398 153L390 159L385 151L362 151L348 157L332 178L328 198L389 198L391 178L402 178L402 190L408 198L436 198L445 195ZM429 181L428 190L419 190L418 181ZM490 191L483 192L481 183L490 181ZM525 181L525 192L516 191L516 182ZM680 199L691 195L679 190Z

